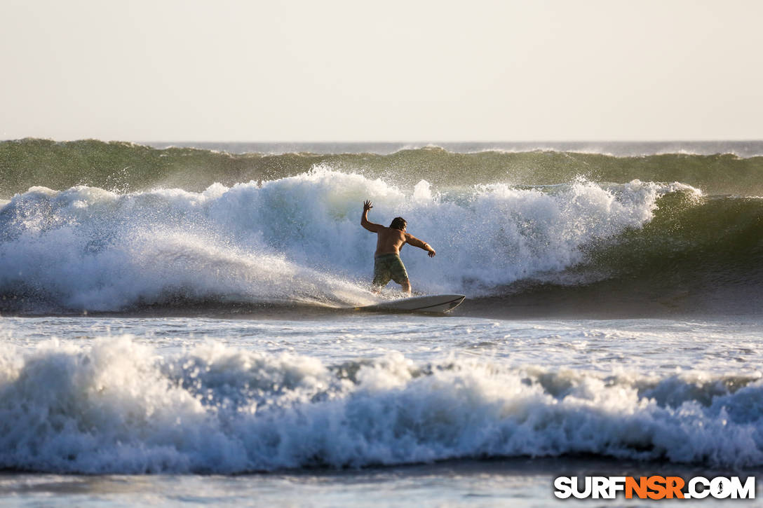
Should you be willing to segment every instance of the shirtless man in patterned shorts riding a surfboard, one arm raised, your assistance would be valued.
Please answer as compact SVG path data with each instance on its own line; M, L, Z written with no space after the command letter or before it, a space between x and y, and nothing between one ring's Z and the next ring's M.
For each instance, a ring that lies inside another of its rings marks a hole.
M376 233L376 253L374 254L374 281L373 291L381 291L390 279L401 285L405 293L410 296L410 281L405 265L400 259L400 249L406 244L429 252L430 258L435 255L434 249L427 242L422 242L416 236L405 232L407 223L403 217L395 217L389 227L369 222L369 210L374 206L371 201L363 203L363 214L360 225L365 229Z

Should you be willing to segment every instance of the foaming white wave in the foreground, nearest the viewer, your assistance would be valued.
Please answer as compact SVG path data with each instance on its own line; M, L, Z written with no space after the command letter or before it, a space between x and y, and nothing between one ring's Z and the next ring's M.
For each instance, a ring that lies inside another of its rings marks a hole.
M763 464L758 378L600 378L402 355L324 365L129 337L4 346L0 465L78 473L235 473L589 454Z

